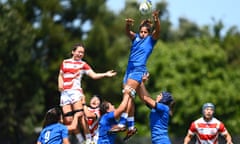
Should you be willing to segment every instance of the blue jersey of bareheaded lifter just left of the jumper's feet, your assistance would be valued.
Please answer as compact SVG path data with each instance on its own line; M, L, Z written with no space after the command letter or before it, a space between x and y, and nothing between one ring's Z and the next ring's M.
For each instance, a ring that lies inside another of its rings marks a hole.
M101 116L99 121L98 144L114 144L116 134L109 134L108 131L116 124L117 121L114 117L114 112L109 112Z

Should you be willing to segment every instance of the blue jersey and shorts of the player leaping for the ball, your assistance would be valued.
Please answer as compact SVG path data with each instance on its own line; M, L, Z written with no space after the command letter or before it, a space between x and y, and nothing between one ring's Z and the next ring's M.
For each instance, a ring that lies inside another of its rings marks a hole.
M141 38L139 34L136 34L132 41L128 66L123 79L124 84L127 79L133 79L141 83L142 76L147 73L146 63L155 44L156 40L151 35Z

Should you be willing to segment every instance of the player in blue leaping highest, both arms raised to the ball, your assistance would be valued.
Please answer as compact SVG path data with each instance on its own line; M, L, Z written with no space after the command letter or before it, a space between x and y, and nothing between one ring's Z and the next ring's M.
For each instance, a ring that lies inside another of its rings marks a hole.
M139 27L139 33L130 30L134 20L131 18L126 19L126 34L131 39L132 46L123 79L124 96L130 95L134 98L136 92L138 93L143 75L148 72L146 63L160 35L159 11L154 11L152 15L154 26L152 21L148 19L143 20ZM113 133L124 131L126 126L128 126L127 135L124 140L130 138L137 131L134 126L135 106L133 98L129 100L127 110L121 115L119 125L110 130Z

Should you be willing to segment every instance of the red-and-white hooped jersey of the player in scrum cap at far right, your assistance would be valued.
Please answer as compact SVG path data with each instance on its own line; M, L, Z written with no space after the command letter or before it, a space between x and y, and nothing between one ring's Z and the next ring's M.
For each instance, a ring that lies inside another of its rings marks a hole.
M196 135L196 144L218 144L219 134L226 134L227 129L216 118L212 118L212 120L206 122L201 117L191 124L188 133Z

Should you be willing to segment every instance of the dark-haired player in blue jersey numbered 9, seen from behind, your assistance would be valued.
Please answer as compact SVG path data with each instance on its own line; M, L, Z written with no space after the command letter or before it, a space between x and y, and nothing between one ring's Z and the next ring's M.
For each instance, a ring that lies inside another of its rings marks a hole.
M38 137L37 144L70 144L68 131L75 130L78 124L79 113L74 115L71 125L65 126L61 121L61 110L54 107L47 111L43 129Z

